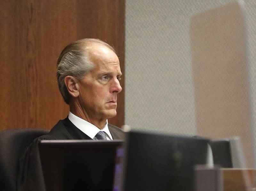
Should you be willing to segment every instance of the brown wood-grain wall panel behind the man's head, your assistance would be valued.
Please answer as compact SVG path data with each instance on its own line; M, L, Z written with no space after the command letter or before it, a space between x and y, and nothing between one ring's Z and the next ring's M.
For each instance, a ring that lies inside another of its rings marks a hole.
M124 74L124 0L9 0L0 3L1 121L0 130L51 129L68 114L56 79L62 49L82 38L112 45ZM117 116L124 124L124 76Z

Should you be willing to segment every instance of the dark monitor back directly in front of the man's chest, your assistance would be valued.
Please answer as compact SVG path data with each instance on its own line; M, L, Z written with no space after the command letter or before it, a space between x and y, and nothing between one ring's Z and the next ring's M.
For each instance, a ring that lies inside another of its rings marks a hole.
M41 141L39 152L47 191L110 191L116 148L122 141Z

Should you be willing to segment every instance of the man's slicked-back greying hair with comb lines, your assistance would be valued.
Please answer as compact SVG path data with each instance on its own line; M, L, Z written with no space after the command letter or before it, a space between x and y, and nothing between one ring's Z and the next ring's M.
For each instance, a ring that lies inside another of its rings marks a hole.
M70 101L70 94L65 86L64 78L73 76L76 79L82 79L88 71L94 68L86 49L93 43L104 45L115 52L114 48L99 39L81 39L72 42L60 53L57 62L57 80L60 93L67 104Z

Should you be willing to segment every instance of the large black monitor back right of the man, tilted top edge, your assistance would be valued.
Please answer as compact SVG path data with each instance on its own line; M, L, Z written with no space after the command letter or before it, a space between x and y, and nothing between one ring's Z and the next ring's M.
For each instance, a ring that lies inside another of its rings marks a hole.
M194 165L206 164L207 149L207 139L130 132L123 191L191 191Z

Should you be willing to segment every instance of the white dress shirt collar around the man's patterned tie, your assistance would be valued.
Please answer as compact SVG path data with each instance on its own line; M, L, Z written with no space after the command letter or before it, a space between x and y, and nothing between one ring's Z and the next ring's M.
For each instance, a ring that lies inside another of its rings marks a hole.
M108 129L108 120L106 120L106 125L104 126L104 128L103 129L99 129L98 127L96 127L92 123L89 123L88 121L85 121L85 120L81 119L80 117L77 117L76 115L72 114L71 112L69 112L69 114L68 114L68 119L78 129L80 129L82 132L84 132L86 135L88 135L92 139L95 139L95 135L99 131L104 131L107 140L113 140L113 138L112 138L112 136L111 136L111 134L109 132L109 129Z

